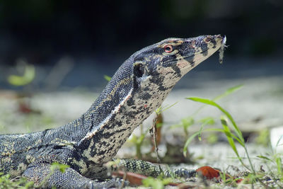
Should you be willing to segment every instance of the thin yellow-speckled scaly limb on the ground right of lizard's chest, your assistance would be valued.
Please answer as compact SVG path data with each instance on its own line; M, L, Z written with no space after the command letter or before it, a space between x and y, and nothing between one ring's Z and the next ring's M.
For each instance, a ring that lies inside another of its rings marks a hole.
M143 161L139 159L120 159L118 167L124 167L125 171L127 172L139 173L144 176L153 176L153 177L157 177L161 175L161 173L163 173L163 175L166 177L170 177L171 175L173 175L183 178L190 178L192 176L195 176L196 174L195 170L188 170L185 168L163 170L161 166L152 164L149 161ZM115 171L115 168L112 169L113 171Z

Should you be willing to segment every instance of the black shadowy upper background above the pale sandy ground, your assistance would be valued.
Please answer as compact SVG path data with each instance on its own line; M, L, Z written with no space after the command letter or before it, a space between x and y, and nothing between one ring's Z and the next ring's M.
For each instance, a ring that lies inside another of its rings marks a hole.
M5 77L13 70L7 67L14 67L18 58L38 67L36 79L42 81L68 56L74 64L62 84L88 86L93 74L112 76L142 47L169 37L204 34L226 35L225 57L230 59L280 62L283 1L1 1L0 84L8 86Z

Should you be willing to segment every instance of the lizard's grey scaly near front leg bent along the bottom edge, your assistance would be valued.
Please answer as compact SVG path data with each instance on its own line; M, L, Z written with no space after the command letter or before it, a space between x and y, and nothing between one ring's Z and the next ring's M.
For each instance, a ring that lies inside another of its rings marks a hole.
M23 176L29 181L34 181L40 188L110 188L119 187L121 182L111 179L105 182L95 182L81 176L73 168L66 168L64 173L59 170L52 171L50 164L33 164L28 166Z

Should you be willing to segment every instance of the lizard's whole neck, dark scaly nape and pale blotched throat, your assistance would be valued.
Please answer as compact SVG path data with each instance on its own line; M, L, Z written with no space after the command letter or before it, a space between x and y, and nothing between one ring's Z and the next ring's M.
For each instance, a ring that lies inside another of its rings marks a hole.
M78 149L95 164L110 161L134 128L161 105L173 88L161 91L158 84L150 81L150 76L144 86L137 86L135 77L127 69L133 70L132 63L122 64L111 80L115 82L110 81L98 100L82 116L88 132L78 142Z

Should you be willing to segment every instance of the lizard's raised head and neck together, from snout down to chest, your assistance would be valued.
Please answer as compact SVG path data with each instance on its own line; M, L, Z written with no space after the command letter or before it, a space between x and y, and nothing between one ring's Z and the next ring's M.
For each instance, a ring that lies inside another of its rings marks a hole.
M180 78L224 43L221 35L169 38L134 53L83 115L83 125L88 126L79 142L83 155L96 164L112 159Z

